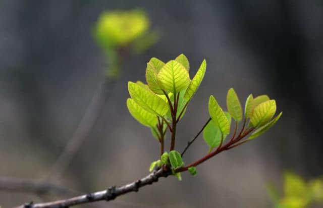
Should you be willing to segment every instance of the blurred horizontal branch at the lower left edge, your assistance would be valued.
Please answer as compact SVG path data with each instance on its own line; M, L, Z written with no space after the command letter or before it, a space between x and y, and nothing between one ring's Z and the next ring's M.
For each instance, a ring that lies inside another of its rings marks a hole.
M76 194L74 190L43 181L34 181L25 178L0 177L0 190L10 192L29 192L36 194Z

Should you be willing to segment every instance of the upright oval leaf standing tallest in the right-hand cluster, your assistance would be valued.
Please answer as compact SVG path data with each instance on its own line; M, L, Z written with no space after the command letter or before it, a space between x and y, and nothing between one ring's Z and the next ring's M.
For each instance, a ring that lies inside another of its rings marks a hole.
M238 122L242 120L242 107L233 88L229 89L227 94L227 108L234 120Z

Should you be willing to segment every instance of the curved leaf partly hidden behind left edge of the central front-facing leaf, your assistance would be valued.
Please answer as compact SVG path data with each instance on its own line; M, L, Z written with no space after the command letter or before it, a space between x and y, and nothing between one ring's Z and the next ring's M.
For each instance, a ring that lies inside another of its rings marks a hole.
M157 74L164 65L164 62L156 58L151 58L147 63L146 81L151 91L156 94L164 94L163 90L160 89L157 83Z

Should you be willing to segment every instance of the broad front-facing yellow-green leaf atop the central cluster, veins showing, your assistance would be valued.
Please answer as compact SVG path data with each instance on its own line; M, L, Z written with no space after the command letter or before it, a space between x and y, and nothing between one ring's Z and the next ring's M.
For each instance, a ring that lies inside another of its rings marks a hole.
M163 66L157 75L158 85L167 93L186 89L190 83L190 77L185 67L175 60L169 61Z

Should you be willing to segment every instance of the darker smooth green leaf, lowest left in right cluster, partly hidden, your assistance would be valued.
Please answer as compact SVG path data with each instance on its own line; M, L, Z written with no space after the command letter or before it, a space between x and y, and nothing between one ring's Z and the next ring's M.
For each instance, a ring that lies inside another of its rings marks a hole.
M229 123L231 123L231 116L228 112L225 112ZM223 136L223 141L225 141L227 135ZM205 143L210 147L209 151L212 151L214 148L217 148L222 139L222 133L218 126L213 122L209 122L203 130L203 138Z

